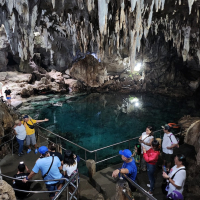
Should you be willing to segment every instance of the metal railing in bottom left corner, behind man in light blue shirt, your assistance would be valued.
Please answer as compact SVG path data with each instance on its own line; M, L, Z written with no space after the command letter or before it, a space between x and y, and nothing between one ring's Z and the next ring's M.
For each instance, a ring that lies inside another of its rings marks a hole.
M16 180L16 181L22 181L23 179L18 179L18 178L14 178L14 177L10 177L7 176L5 174L1 173L1 168L0 168L0 180L1 177L5 177L11 180ZM23 193L33 193L33 194L41 194L41 193L54 193L57 192L57 194L55 195L55 197L53 198L54 200L58 199L59 196L62 194L62 192L66 189L66 199L67 200L71 200L72 198L74 198L75 200L77 199L75 197L75 193L78 190L78 186L79 186L79 182L78 182L78 177L79 177L79 173L75 173L70 179L67 178L60 178L60 179L53 179L53 180L28 180L27 182L49 182L49 181L60 181L60 180L65 180L66 183L63 185L63 187L60 190L53 190L53 191L47 191L47 190L41 190L41 191L31 191L31 190L20 190L20 189L16 189L13 188L13 190L17 191L17 192L23 192ZM72 180L76 178L76 185L74 185L72 183ZM72 185L75 188L75 192L73 192L72 194L69 192L69 186ZM70 198L69 198L70 195Z

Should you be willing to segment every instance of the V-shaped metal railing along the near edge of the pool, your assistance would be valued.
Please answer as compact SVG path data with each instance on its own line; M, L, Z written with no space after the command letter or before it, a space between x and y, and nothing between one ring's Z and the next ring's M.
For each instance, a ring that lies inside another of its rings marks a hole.
M130 142L133 141L133 140L137 140L137 139L139 139L139 137L140 137L140 136L134 137L134 138L131 138L131 139L128 139L128 140L124 140L124 141L122 141L122 142L117 142L117 143L114 143L114 144L112 144L112 145L108 145L108 146L105 146L105 147L102 147L102 148L95 149L95 150L92 150L92 151L91 151L91 150L88 150L88 149L86 149L86 148L84 148L84 147L82 147L82 146L80 146L80 145L78 145L78 144L76 144L76 143L74 143L74 142L72 142L72 141L70 141L70 140L68 140L68 139L66 139L66 138L64 138L64 137L62 137L62 136L60 136L60 135L58 135L58 134L56 134L56 133L53 133L52 131L49 131L49 130L47 130L47 129L41 127L41 126L39 126L39 125L37 125L36 127L37 127L37 130L38 130L38 135L39 135L40 137L46 139L46 140L49 141L49 142L52 142L52 141L50 141L47 137L44 137L44 136L42 135L42 130L47 131L47 132L50 133L51 135L56 136L56 138L58 137L59 139L62 139L62 140L64 140L65 142L69 142L70 144L72 144L72 145L74 145L74 146L76 146L76 147L82 149L82 150L85 152L85 156L84 156L84 158L80 157L80 159L83 160L83 161L85 161L85 162L86 162L86 160L87 160L87 152L88 152L88 153L94 153L94 154L95 154L95 159L94 159L94 160L95 160L95 163L96 163L96 164L102 163L102 162L104 162L104 161L107 161L107 160L110 160L110 159L113 159L113 158L119 156L119 154L117 154L117 155L114 155L114 156L110 156L110 157L108 157L108 158L106 158L106 159L97 161L97 152L99 152L99 151L101 151L101 150L104 150L104 149L107 149L107 148L110 148L110 147L114 147L114 146L120 145L120 144L124 144L124 143L128 143L128 147L129 147L129 149L130 149L130 148L131 148ZM155 131L154 133L160 132L160 131L162 131L162 130L163 130L163 129L157 130L157 131ZM161 137L161 134L160 134L160 137ZM52 143L54 143L54 144L57 145L57 143L55 143L55 142L52 142ZM62 148L63 150L66 150L66 149L63 148L63 147L61 147L61 148Z

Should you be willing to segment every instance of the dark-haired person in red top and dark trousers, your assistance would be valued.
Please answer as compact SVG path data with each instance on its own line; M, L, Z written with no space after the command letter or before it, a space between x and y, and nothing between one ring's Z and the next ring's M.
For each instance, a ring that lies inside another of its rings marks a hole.
M158 161L159 155L159 142L157 140L152 141L151 148L148 151L146 151L146 149L143 147L143 158L147 163L147 173L150 182L150 185L147 184L147 186L150 186L149 194L151 195L153 195L153 189L155 185L154 172L156 170L156 163Z

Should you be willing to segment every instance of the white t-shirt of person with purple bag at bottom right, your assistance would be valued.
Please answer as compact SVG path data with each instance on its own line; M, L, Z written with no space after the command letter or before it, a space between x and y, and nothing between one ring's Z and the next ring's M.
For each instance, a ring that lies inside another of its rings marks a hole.
M171 168L170 173L168 174L170 177L172 177L178 170L184 169L185 167L180 167L177 168L175 165L174 167ZM180 170L177 172L173 178L175 185L180 186L181 189L177 189L175 186L173 186L171 183L169 184L169 191L168 194L171 194L174 190L180 192L182 194L184 184L185 184L185 179L186 179L186 170Z

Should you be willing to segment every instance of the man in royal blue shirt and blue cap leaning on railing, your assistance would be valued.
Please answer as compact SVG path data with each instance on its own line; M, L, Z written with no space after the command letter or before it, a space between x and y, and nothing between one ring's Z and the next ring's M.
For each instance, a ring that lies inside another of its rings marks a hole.
M120 150L119 154L121 155L122 160L124 161L121 168L116 169L112 173L112 177L116 178L119 174L126 174L132 181L136 181L137 176L137 166L135 164L135 160L131 157L132 153L129 149ZM132 184L129 183L129 187L131 191L134 191L135 188Z

